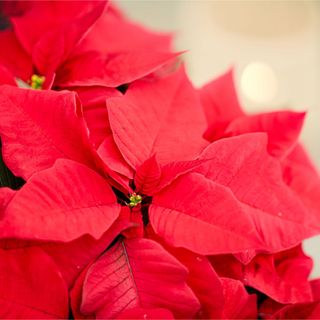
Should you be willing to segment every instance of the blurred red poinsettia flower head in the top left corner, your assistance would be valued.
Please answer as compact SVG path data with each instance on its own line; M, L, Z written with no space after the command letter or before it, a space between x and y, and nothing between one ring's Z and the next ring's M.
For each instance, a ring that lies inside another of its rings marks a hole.
M30 2L22 14L11 17L13 30L0 32L7 48L0 54L5 70L0 83L13 84L18 78L19 86L31 84L46 89L97 84L116 87L153 72L177 56L169 49L169 36L147 32L115 14L115 10L104 10L106 2ZM117 46L113 36L109 43L108 34L118 29L128 33L118 38ZM101 34L103 46L96 41ZM136 40L129 44L127 39ZM33 74L45 80L38 78L35 81L40 83L33 84Z

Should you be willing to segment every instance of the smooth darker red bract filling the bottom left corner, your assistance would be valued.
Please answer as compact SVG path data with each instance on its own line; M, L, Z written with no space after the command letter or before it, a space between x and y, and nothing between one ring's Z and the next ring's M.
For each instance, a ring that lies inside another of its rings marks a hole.
M39 248L0 250L1 319L68 317L68 290L56 265Z

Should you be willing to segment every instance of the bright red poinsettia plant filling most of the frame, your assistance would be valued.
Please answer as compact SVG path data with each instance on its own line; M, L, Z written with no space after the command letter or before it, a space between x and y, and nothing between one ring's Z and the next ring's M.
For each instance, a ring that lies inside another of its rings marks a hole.
M0 2L0 317L320 317L304 113L195 89L102 1Z

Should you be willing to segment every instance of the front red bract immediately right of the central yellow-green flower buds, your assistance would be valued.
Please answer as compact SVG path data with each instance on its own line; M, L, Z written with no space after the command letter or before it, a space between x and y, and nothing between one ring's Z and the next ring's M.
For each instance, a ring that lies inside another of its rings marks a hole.
M250 218L253 214L260 212L245 207L226 187L196 173L175 180L154 196L149 208L157 234L173 246L204 255L262 248L262 238Z

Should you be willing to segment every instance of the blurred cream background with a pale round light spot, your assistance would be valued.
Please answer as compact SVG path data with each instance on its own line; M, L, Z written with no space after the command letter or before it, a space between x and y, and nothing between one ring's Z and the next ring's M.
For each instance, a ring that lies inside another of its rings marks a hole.
M235 67L244 109L306 110L302 140L320 168L320 1L118 0L132 19L173 31L196 86ZM320 197L320 195L319 195ZM305 242L320 277L320 237Z

